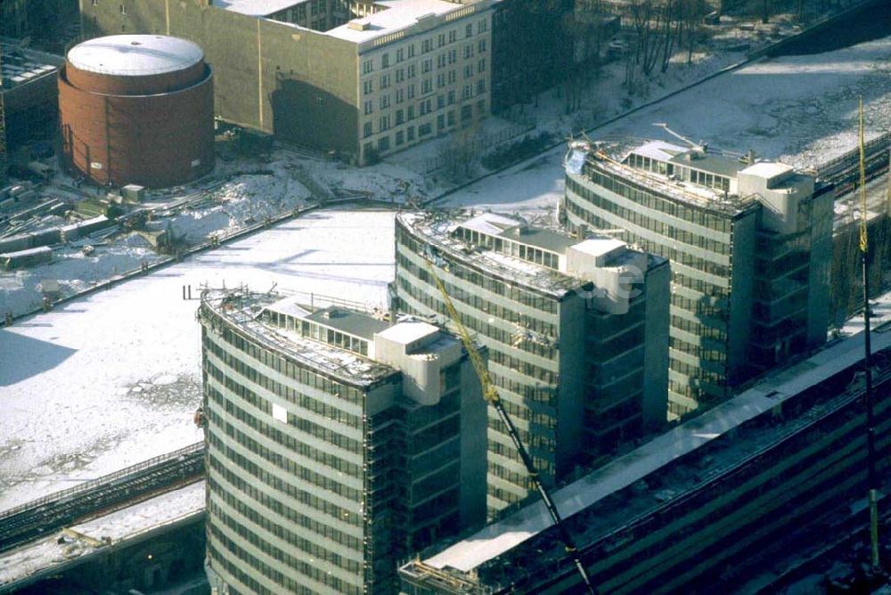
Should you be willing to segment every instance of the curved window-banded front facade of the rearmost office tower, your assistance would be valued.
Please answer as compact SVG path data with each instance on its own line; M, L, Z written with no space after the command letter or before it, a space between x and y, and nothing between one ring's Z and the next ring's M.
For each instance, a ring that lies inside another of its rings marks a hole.
M669 416L729 396L734 233L754 228L757 205L709 213L591 167L567 174L564 206L570 225L620 230L617 237L671 261Z

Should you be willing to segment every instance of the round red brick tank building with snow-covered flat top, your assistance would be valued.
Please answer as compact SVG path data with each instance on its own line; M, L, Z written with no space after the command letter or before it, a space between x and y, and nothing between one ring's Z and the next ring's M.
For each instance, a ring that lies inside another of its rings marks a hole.
M210 67L191 41L90 39L59 72L62 155L100 184L188 182L214 167L213 102Z

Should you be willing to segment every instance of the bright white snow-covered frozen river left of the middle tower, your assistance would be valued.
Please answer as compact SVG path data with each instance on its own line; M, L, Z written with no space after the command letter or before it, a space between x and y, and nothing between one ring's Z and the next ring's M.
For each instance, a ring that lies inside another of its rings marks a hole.
M0 330L0 509L202 439L184 285L383 306L393 259L392 213L315 212Z

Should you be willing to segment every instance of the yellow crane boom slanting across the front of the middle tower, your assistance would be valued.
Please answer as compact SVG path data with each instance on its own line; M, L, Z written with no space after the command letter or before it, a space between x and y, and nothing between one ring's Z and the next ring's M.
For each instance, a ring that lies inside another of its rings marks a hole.
M483 389L483 397L489 404L495 407L495 412L498 412L498 417L501 418L504 426L507 428L508 434L511 436L513 445L517 447L519 458L522 459L523 464L526 466L526 471L529 474L529 477L532 479L533 484L535 484L535 489L542 497L544 508L547 509L548 514L551 515L553 524L557 527L557 531L560 533L560 541L563 542L563 547L565 548L566 553L572 558L573 563L576 565L576 569L578 570L578 574L582 577L582 582L584 583L585 588L591 595L596 595L597 590L594 589L594 586L591 583L591 577L588 576L588 571L584 569L582 560L578 557L578 549L576 548L576 543L573 542L572 536L569 534L566 525L564 525L563 518L560 517L560 512L554 505L551 494L542 483L541 477L539 477L538 471L535 469L535 463L532 462L532 457L529 456L526 447L523 446L523 443L520 441L517 427L513 425L510 416L508 416L507 414L507 410L504 409L504 404L502 403L501 396L498 394L498 389L495 387L495 382L493 382L492 377L489 376L489 370L486 367L486 363L483 362L482 355L479 355L477 346L473 344L473 339L470 338L470 333L464 327L464 323L461 322L461 316L459 316L458 311L454 309L452 298L449 297L448 291L446 291L446 286L443 284L443 281L439 279L439 275L436 271L436 266L434 265L435 257L433 255L432 249L429 246L427 252L427 268L429 270L430 276L436 283L437 289L439 289L439 293L442 294L449 318L451 318L452 322L454 322L454 326L458 331L458 336L461 337L461 341L464 344L464 349L467 350L467 355L470 357L470 362L473 363L473 369L477 372L479 383L480 385L482 385Z

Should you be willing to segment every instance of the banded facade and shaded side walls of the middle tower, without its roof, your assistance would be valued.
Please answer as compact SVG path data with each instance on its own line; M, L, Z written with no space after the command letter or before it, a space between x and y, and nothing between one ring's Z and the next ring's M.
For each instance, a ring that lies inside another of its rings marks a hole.
M661 261L661 295L650 288L660 287L659 282L648 278L646 289L630 300L625 314L607 314L585 298L593 292L592 283L552 270L557 268L557 254L511 246L516 242L506 238L490 239L488 244L478 238L474 244L469 236L468 230L459 228L451 236L457 242L454 250L432 248L429 235L410 219L397 217L397 307L449 321L428 269L432 250L437 276L462 323L486 346L491 377L546 483L567 477L579 464L605 461L619 444L651 427L645 403L652 396L644 395L648 380L653 394L662 398L652 409L664 420L666 374L651 358L659 358L660 351L667 353L667 320L660 336L658 322L651 320L658 314L648 310L648 304L650 300L658 304L659 299L667 304L665 261ZM498 246L515 252L499 262L523 261L519 270L525 263L540 266L526 266L525 273L511 276L509 270L496 270L495 263L486 265L472 251L462 252L462 246L470 250L474 245L484 252L486 246L495 252ZM524 275L536 269L552 275L562 287L545 290L524 282ZM663 314L667 319L667 312ZM662 366L665 360L658 359ZM534 486L492 408L488 426L487 501L489 516L494 517L524 501Z

